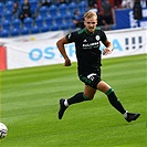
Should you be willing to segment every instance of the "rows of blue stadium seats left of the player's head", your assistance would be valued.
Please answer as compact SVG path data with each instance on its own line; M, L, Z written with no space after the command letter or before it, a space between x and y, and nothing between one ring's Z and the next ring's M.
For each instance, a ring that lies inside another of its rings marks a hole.
M40 7L39 0L29 0L31 4L31 18L20 20L21 4L24 0L17 0L19 10L17 17L13 14L13 3L15 0L0 2L0 28L1 36L17 36L46 31L75 29L73 14L76 9L84 12L87 8L86 0L69 0L66 3L56 4L52 2L50 7ZM13 31L11 30L13 29ZM6 31L7 30L7 31ZM20 33L18 33L18 31Z

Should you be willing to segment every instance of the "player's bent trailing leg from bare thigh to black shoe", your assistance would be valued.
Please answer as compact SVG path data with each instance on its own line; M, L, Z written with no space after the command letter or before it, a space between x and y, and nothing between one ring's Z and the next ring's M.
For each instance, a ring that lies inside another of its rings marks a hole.
M69 99L61 98L60 99L59 119L62 118L65 109L70 105L81 103L81 102L84 102L84 101L93 99L95 92L96 92L95 88L92 88L91 86L85 85L84 93L83 92L77 93Z

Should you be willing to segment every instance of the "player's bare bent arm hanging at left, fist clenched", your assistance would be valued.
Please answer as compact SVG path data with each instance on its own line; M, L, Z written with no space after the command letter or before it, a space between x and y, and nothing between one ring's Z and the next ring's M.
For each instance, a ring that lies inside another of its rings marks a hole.
M56 42L56 45L59 48L59 51L61 52L62 56L64 57L65 62L64 62L64 66L71 66L71 60L69 59L64 44L67 44L67 40L66 38L62 38Z

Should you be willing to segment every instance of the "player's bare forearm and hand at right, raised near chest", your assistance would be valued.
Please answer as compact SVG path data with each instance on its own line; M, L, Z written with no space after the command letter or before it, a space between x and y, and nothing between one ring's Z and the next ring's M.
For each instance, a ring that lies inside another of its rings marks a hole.
M103 50L103 54L104 54L104 55L111 54L112 51L113 51L113 44L112 44L112 42L109 42L108 40L106 40L105 42L103 42L103 44L106 46L106 48Z

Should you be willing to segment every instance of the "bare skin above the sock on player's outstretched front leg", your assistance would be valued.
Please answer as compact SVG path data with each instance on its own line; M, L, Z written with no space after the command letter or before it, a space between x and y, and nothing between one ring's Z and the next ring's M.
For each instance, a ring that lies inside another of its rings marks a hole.
M97 90L103 92L103 93L106 93L109 88L111 88L111 86L106 82L104 82L104 81L101 81L97 84Z

